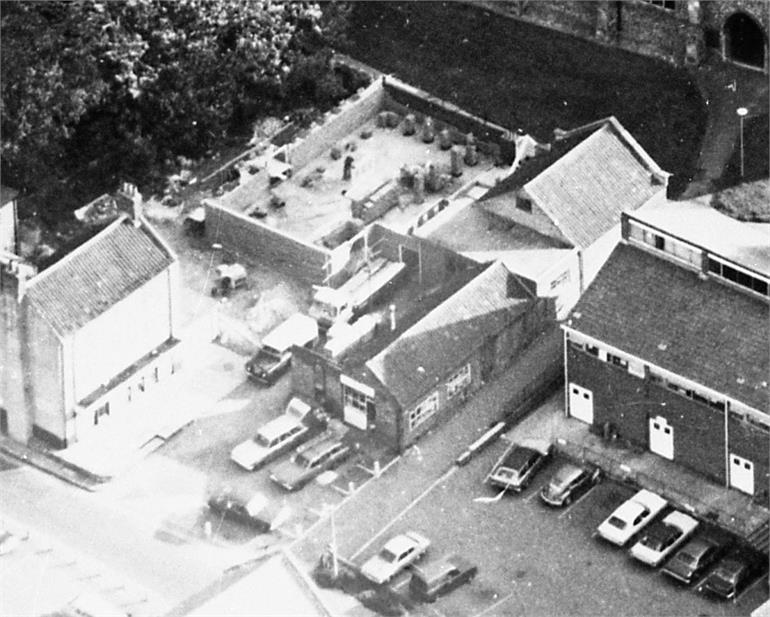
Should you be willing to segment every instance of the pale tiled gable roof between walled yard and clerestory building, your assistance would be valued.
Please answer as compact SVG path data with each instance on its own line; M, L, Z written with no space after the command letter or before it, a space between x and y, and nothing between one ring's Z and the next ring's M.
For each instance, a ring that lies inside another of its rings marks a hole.
M550 153L522 164L505 186L509 192L523 188L573 246L586 248L620 222L622 211L661 191L667 177L609 117L566 133ZM515 202L503 193L485 207L499 211Z

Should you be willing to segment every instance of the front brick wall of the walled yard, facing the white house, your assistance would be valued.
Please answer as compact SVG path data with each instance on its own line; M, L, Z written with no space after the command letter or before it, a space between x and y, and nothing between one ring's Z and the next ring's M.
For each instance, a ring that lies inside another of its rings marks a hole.
M308 283L321 284L329 251L301 242L240 214L204 201L206 239L238 255L267 262Z

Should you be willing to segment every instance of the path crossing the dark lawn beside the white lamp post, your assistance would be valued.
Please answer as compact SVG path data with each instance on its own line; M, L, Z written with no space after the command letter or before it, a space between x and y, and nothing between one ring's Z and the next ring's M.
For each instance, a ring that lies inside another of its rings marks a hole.
M722 177L740 139L739 107L748 116L768 113L767 75L720 59L694 72L708 111L706 132L698 155L698 170L683 198L711 193Z

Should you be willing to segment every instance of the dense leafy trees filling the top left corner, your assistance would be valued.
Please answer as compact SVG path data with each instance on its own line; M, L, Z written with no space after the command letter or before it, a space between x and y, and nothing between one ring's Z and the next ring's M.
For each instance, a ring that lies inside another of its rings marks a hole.
M11 0L0 12L3 183L72 201L49 209L82 205L77 182L146 184L260 115L343 92L329 60L344 5Z

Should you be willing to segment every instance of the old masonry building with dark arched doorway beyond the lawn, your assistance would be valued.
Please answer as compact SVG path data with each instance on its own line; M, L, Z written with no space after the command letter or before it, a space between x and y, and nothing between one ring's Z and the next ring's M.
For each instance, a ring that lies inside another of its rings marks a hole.
M699 64L712 51L725 60L768 70L770 8L764 0L481 0L474 4L679 65Z

